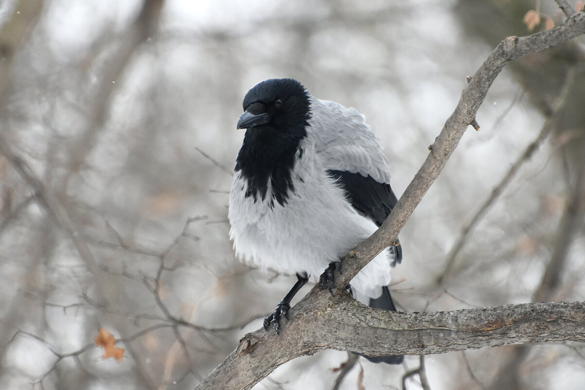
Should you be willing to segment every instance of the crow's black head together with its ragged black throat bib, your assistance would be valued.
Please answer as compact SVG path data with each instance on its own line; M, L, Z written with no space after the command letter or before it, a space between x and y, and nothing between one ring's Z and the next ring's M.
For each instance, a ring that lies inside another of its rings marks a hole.
M301 159L311 102L305 87L292 78L262 81L246 94L239 129L247 129L236 159L236 174L246 179L246 197L284 206L294 191L292 169ZM269 186L270 183L270 186Z

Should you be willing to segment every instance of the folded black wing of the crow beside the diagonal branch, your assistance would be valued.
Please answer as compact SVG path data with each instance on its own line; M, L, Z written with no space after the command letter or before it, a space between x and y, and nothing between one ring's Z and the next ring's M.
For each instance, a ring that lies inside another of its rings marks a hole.
M351 173L345 170L328 170L328 173L329 176L342 184L352 206L360 213L370 217L378 226L386 221L386 217L398 202L390 184L377 182L370 175L366 177L360 173ZM402 248L398 245L391 249L394 249L396 255L393 265L400 264Z

